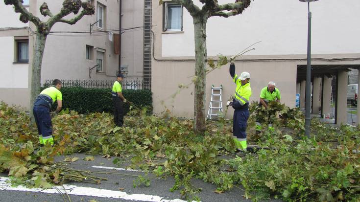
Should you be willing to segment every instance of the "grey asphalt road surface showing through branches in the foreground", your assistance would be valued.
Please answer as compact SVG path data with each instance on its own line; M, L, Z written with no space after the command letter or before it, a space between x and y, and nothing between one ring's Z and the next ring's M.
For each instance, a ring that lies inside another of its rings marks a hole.
M153 174L149 174L150 186L145 187L144 185L133 187L133 180L136 177L125 176L121 174L130 174L130 175L144 175L144 172L136 171L125 171L125 170L110 170L104 168L94 168L93 166L103 166L103 167L117 167L112 161L115 157L105 158L101 156L94 156L95 160L85 161L84 157L91 155L84 154L74 154L70 157L79 157L79 160L68 163L68 167L78 169L78 170L89 170L97 172L111 172L114 174L97 174L96 176L107 178L107 180L102 181L100 184L93 183L84 183L84 182L68 182L66 184L78 186L78 187L92 187L96 189L99 193L104 194L109 192L109 190L117 192L126 192L126 200L106 198L106 197L96 197L96 192L88 191L92 196L78 196L69 194L72 202L89 202L95 200L96 202L144 202L144 201L159 201L161 202L183 202L181 199L181 194L178 191L170 192L169 189L174 184L174 179L168 177L166 180L158 179ZM56 157L56 161L63 161L65 157ZM120 165L121 168L126 168L129 164L128 160L124 160L124 163ZM6 174L0 174L0 177L6 177ZM202 191L198 194L202 202L250 202L250 200L244 199L242 196L244 192L238 188L233 188L230 191L216 194L216 186L210 183L205 183L202 180L193 179L192 183L195 187L201 188ZM121 188L121 189L120 189ZM68 191L70 193L70 191ZM140 195L136 195L140 194ZM105 194L106 195L106 194ZM139 198L137 198L139 197ZM13 190L1 190L0 186L0 201L1 202L62 202L64 201L63 195L61 194L50 194L50 193L41 193L41 192L29 192L29 191L13 191ZM69 201L69 200L68 200ZM160 202L159 201L159 202ZM185 199L184 199L185 201ZM270 200L268 202L281 202L279 200Z

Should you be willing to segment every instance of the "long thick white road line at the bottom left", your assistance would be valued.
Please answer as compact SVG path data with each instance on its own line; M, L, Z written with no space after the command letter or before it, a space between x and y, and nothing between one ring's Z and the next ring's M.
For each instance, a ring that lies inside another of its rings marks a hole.
M47 194L59 194L56 189L41 189L41 188L26 188L24 186L12 187L11 183L8 182L9 178L0 177L0 190L12 190L12 191L28 191L28 192L39 192ZM65 193L62 186L56 186L61 193ZM146 195L146 194L127 194L126 192L113 191L108 189L97 189L92 187L81 187L69 184L64 184L65 190L70 195L76 196L92 196L101 198L114 198L124 199L141 202L186 202L181 199L167 200L164 197Z

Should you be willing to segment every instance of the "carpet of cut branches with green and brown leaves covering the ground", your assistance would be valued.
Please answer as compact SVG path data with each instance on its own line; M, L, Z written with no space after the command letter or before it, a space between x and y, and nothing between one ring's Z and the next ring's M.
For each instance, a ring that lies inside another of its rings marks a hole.
M81 152L115 156L117 166L123 157L131 157L131 168L159 178L173 176L170 191L179 190L188 200L198 200L201 189L191 183L197 178L215 184L216 193L243 189L243 196L252 201L270 197L288 202L359 201L360 154L352 153L360 150L359 128L334 128L312 120L312 138L307 139L303 136L303 114L297 109L277 103L270 104L267 111L256 107L252 105L248 140L266 149L234 158L229 155L235 151L232 123L224 119L208 122L207 132L197 136L191 120L167 114L155 117L140 112L139 117L126 117L126 127L119 128L107 113L62 113L53 119L55 146L40 148L36 128L27 125L28 116L1 103L0 171L8 172L14 183L30 187L46 188L66 180L105 180L96 177L100 173L65 165L78 160L70 156ZM261 133L255 134L254 122L259 116L267 119L259 128ZM54 162L56 155L69 157L65 162ZM150 186L147 175L132 177L135 187Z

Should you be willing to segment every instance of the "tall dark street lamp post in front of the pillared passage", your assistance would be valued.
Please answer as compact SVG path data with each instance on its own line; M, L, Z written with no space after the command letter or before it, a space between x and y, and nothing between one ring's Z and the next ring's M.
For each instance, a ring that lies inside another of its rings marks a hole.
M308 2L308 62L306 67L306 90L305 90L305 135L310 137L310 108L311 108L311 12L310 2L317 0L300 0Z

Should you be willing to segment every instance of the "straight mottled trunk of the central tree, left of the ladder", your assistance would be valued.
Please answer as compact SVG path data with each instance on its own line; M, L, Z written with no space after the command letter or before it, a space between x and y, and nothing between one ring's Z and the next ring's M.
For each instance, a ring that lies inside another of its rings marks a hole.
M203 15L194 16L195 34L195 96L194 96L194 130L203 134L205 128L205 98L206 98L206 22L208 18Z

